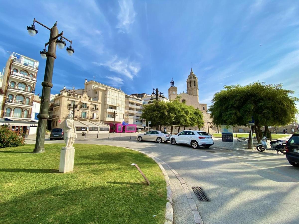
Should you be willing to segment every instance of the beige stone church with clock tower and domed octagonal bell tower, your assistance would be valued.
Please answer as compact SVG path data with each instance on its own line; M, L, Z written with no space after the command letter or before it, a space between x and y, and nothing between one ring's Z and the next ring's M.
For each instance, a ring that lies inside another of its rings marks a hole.
M199 109L202 111L203 119L204 119L204 126L200 128L202 131L209 131L211 134L217 132L217 127L214 126L212 123L209 123L208 128L208 122L212 122L212 119L210 119L210 113L208 113L208 107L206 103L199 103L199 96L198 96L198 79L196 75L193 73L193 70L191 68L191 72L186 80L187 84L187 93L183 92L178 94L178 88L174 86L173 79L170 82L170 88L168 89L168 99L174 100L176 99L176 96L181 96L180 101L185 103L188 106L193 106L194 108ZM198 127L187 127L186 130L198 130ZM178 129L174 130L174 132L177 132ZM182 131L182 129L180 130Z

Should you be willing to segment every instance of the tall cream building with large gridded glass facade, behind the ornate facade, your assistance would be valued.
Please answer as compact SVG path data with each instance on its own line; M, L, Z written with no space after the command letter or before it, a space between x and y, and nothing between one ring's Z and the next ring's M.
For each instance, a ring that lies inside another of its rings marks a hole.
M124 121L125 93L122 90L85 79L84 91L89 97L100 103L101 122L113 124L113 122L121 123Z

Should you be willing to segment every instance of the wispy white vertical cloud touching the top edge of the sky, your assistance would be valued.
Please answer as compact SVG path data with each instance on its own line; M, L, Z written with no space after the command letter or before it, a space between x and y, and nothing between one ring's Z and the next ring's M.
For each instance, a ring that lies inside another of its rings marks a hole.
M133 7L133 2L131 0L118 1L120 12L118 13L118 24L116 28L119 29L119 32L129 33L131 29L131 24L135 21L135 11Z

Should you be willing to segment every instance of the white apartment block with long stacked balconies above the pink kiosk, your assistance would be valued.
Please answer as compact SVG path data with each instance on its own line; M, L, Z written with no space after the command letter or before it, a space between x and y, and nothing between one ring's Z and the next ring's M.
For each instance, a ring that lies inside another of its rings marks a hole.
M143 100L135 95L125 95L125 122L142 127Z

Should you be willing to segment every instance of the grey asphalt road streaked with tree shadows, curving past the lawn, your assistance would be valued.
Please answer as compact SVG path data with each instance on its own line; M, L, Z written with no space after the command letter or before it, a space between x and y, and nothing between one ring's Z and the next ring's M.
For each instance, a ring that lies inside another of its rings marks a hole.
M200 185L210 202L200 202L193 192L192 197L205 224L299 223L299 168L289 165L284 154L213 147L194 150L169 142L137 142L135 134L132 139L130 134L122 134L121 139L119 134L111 134L110 139L108 134L96 137L78 136L76 143L122 146L152 154L178 172L190 191ZM60 142L63 140L45 141ZM194 223L182 186L173 171L163 167L173 191L174 223Z

